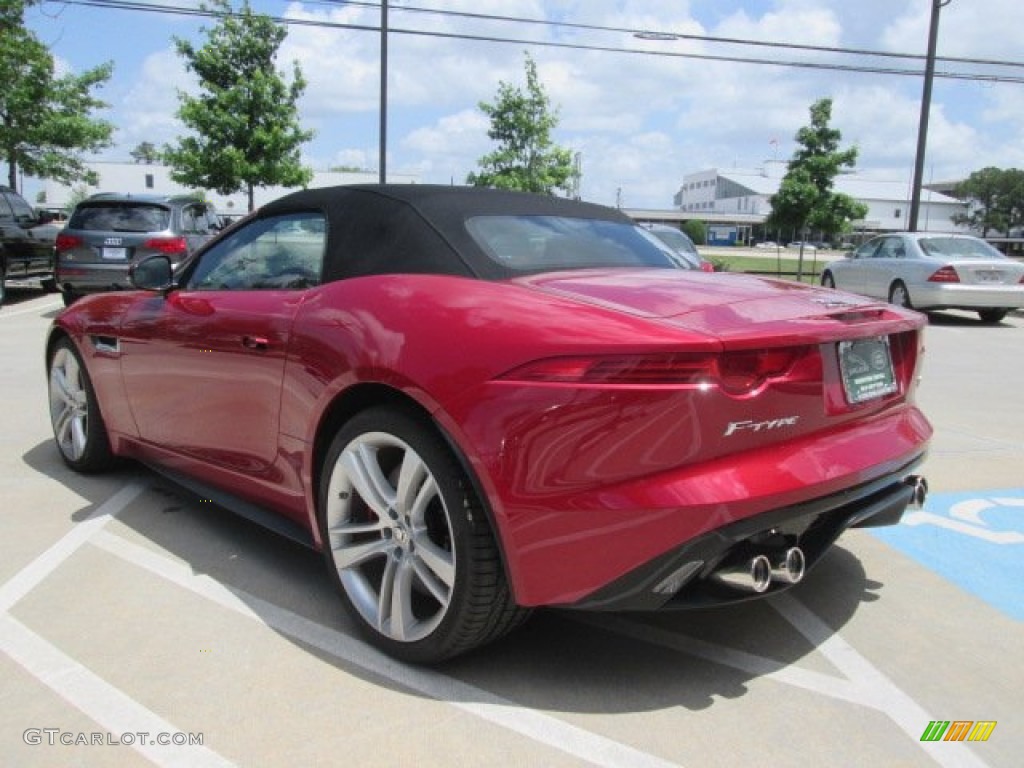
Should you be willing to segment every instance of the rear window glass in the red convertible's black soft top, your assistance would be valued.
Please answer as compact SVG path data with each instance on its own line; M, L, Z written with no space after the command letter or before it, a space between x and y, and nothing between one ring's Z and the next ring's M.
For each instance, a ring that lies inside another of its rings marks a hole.
M466 228L513 272L591 267L678 268L666 246L634 224L565 216L476 216Z

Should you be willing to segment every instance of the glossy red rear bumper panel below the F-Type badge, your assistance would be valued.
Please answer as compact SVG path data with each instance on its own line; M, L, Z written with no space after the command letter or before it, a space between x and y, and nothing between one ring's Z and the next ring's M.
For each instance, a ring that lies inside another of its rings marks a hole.
M719 531L757 534L779 516L814 518L851 503L838 514L859 514L865 494L899 485L912 473L931 435L924 415L902 406L835 430L626 482L520 497L515 506L506 502L496 517L516 601L618 602L612 593L622 587L614 585L642 580L634 574L657 570L663 558L706 537L735 538ZM839 525L835 536L851 524Z

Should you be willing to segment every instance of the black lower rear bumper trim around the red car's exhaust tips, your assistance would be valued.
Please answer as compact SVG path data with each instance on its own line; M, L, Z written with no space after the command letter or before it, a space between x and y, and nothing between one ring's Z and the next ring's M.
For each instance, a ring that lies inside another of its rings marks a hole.
M792 586L773 581L765 592L730 587L713 574L752 556L799 547L810 569L850 527L899 522L914 501L912 470L924 456L884 477L792 507L765 512L698 537L563 607L665 610L740 602Z

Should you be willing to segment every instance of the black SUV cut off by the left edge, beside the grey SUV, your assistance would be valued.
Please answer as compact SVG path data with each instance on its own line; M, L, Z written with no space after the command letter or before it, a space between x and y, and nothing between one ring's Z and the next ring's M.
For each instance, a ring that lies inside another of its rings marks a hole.
M7 281L52 286L53 231L41 226L47 220L16 191L0 186L0 305L7 296Z

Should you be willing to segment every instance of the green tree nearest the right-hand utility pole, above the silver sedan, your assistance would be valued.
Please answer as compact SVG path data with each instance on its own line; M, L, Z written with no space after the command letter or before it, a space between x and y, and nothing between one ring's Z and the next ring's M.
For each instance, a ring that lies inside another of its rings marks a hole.
M830 239L847 231L850 223L867 215L867 206L848 195L833 191L836 177L857 164L857 147L840 148L843 136L830 127L831 99L811 105L811 124L797 131L800 147L786 168L778 191L771 198L767 230L792 230L807 240L808 231ZM804 249L800 249L798 279L802 276Z

